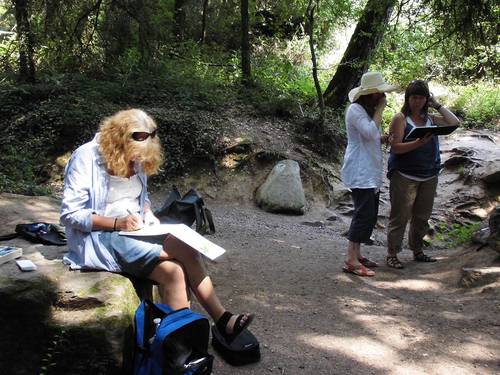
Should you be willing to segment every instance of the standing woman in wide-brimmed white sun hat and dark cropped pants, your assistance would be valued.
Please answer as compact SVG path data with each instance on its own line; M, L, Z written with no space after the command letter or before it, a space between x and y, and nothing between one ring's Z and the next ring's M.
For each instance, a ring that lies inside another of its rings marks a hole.
M358 276L373 276L375 273L369 268L377 266L361 255L361 243L369 240L377 222L383 169L380 125L387 104L385 93L395 89L382 74L367 72L360 85L349 92L352 104L345 115L347 148L342 181L352 191L354 213L342 269Z

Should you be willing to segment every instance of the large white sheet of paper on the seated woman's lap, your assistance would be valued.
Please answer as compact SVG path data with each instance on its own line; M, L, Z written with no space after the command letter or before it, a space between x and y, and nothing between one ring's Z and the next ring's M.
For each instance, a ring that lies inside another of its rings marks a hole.
M160 236L171 234L177 239L191 246L196 251L205 255L208 259L214 260L226 252L222 247L207 240L195 230L185 224L160 224L149 225L133 232L119 232L122 236L142 237L142 236Z

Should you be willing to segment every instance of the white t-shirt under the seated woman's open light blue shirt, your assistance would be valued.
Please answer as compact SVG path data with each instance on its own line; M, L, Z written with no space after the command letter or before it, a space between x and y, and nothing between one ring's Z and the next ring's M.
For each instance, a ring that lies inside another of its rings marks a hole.
M124 217L127 210L139 213L139 195L141 194L141 181L135 174L130 178L109 176L109 190L104 216Z

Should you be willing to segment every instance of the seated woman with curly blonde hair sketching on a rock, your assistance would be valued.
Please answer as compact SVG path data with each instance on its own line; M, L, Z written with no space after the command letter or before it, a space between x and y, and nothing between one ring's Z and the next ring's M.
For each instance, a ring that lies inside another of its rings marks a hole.
M121 236L159 223L151 211L147 176L163 160L157 128L144 111L120 111L104 119L94 139L71 156L64 177L61 223L66 226L72 268L124 272L164 286L163 303L189 307L191 290L231 341L253 315L233 315L215 294L201 255L168 236L158 242Z

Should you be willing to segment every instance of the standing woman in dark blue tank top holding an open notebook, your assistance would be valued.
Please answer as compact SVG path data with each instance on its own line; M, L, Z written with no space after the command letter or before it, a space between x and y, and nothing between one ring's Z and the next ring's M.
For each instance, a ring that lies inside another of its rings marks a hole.
M429 114L429 107L437 114ZM424 254L422 247L441 169L438 137L427 133L415 140L405 138L415 127L458 124L458 118L434 99L426 82L415 80L408 85L401 112L394 116L390 125L391 154L387 176L390 180L391 214L386 259L389 267L404 268L397 255L401 251L408 220L408 242L413 259L417 262L436 261Z

